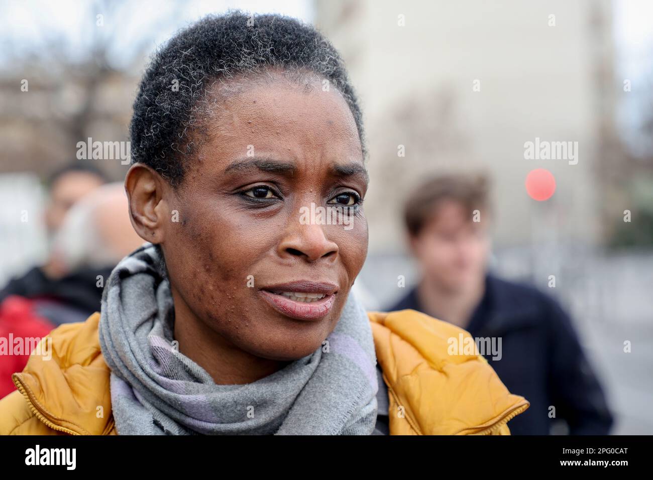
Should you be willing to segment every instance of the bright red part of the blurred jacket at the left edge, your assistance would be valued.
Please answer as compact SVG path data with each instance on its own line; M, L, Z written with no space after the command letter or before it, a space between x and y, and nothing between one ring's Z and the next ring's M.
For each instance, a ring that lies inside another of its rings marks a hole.
M34 310L33 300L22 296L8 296L0 304L0 398L16 390L11 375L27 365L29 339L43 338L54 328Z

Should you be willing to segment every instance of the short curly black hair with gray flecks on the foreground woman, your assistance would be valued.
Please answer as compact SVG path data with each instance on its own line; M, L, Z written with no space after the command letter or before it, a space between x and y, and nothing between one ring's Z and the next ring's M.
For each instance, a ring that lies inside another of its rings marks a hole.
M358 100L334 46L294 18L236 10L203 18L155 53L134 102L132 163L144 163L171 185L180 184L194 152L191 134L200 131L202 104L214 81L270 68L311 72L335 86L353 114L366 154Z

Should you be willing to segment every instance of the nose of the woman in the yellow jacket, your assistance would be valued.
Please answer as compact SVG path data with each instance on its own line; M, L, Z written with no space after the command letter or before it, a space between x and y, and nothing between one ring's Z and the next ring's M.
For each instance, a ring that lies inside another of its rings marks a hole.
M281 257L292 255L315 262L322 258L333 261L338 256L338 244L328 240L323 225L297 224L279 244Z

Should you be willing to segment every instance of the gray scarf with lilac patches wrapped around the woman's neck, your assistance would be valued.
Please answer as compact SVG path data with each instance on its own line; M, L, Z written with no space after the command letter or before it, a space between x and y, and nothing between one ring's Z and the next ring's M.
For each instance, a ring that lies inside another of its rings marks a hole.
M120 435L369 435L377 413L372 330L353 295L327 342L246 385L216 385L173 347L174 306L160 250L125 257L104 287L99 327Z

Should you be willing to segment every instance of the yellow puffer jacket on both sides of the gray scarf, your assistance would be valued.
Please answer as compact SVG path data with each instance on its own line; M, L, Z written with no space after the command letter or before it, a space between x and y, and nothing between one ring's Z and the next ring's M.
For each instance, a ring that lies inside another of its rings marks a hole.
M447 339L464 330L413 310L369 316L390 434L509 434L507 421L528 408L483 357L447 355ZM99 319L52 330L52 359L32 355L12 376L18 391L0 400L0 435L116 435Z

